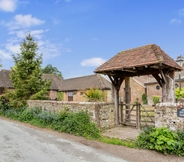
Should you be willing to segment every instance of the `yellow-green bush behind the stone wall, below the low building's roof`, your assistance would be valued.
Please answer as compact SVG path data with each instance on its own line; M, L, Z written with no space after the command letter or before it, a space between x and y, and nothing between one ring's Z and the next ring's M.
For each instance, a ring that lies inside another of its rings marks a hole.
M98 88L90 88L84 92L84 97L86 97L89 102L104 101L105 94Z

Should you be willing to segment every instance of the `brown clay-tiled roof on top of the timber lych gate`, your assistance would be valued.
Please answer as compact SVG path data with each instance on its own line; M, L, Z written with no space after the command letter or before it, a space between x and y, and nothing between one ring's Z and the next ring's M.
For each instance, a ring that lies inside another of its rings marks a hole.
M170 58L161 48L150 44L119 52L107 62L98 67L95 72L120 70L162 63L163 65L181 70L181 67Z

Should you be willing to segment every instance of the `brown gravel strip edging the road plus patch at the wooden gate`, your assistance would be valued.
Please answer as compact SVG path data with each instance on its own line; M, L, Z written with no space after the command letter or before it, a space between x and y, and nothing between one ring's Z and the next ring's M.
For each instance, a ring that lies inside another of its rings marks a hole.
M2 119L9 120L6 118L2 118ZM163 155L161 153L158 153L155 151L150 151L150 150L139 150L139 149L128 148L128 147L124 147L124 146L104 144L104 143L101 143L101 142L98 142L95 140L87 140L83 137L77 137L77 136L66 134L66 133L58 133L58 132L55 132L55 131L52 131L49 129L45 129L45 128L38 128L38 127L32 126L30 124L20 123L18 121L12 121L12 122L23 124L23 125L26 125L27 127L41 130L45 133L56 134L58 136L61 136L62 138L72 140L75 142L79 142L83 145L90 146L90 147L95 148L99 151L103 150L105 152L108 152L109 154L113 154L113 155L118 156L122 159L125 159L129 162L184 162L184 157L178 157L178 156L174 156L174 155ZM117 129L118 133L121 132L121 130L120 130L121 128L116 128L116 129ZM106 134L106 136L112 136L112 134L115 135L116 133L113 132L112 130L113 129L106 130L106 132L104 132L104 134ZM119 134L119 136L130 137L130 134L132 134L132 136L136 136L135 132L137 132L137 131L134 130L134 131L132 131L132 133L130 131L129 133L127 133L125 135L125 134L123 134L123 131L122 131L121 132L122 134L121 135Z

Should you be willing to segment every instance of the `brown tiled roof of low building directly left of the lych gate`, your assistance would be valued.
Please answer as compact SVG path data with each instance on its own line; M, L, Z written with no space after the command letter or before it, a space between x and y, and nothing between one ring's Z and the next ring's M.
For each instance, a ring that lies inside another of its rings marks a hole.
M111 83L100 74L65 79L61 91L84 90L89 88L111 89Z

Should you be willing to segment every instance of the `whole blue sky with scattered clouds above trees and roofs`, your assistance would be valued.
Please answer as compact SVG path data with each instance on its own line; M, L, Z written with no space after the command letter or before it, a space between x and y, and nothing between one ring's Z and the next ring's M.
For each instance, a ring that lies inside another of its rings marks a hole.
M0 58L12 54L31 33L42 67L57 67L65 79L91 75L122 50L157 44L170 57L184 55L181 0L0 0Z

